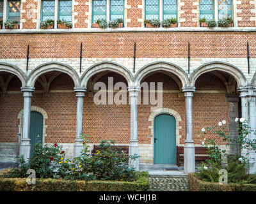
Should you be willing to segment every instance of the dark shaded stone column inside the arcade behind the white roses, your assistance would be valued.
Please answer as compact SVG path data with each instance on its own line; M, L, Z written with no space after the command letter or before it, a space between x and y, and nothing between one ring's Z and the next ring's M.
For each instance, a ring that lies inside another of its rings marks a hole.
M230 135L232 138L237 138L239 135L237 130L237 122L235 122L236 118L239 117L238 103L239 103L239 94L237 93L228 93L226 94L226 101L229 103L229 118L230 124L228 124L228 130L230 131ZM234 156L239 154L239 147L231 144L230 155Z

